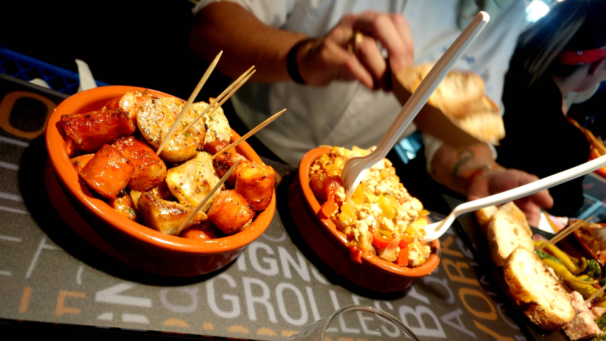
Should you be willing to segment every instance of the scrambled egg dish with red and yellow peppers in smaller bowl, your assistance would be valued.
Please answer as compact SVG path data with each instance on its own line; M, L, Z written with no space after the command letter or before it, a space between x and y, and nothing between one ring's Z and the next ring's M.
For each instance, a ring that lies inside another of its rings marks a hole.
M430 255L421 241L425 235L427 211L399 182L391 162L384 158L368 170L346 203L341 172L351 157L369 154L376 147L348 150L331 147L310 169L310 187L322 205L321 214L330 218L347 236L351 257L361 262L361 252L372 252L387 262L419 266Z

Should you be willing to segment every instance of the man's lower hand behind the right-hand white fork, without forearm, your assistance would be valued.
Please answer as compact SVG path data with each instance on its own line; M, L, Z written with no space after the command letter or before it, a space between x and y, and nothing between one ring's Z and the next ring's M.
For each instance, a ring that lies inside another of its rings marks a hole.
M467 189L467 200L476 200L507 191L523 184L539 180L536 175L528 174L518 169L493 169L475 178ZM518 206L528 220L528 225L538 226L541 218L541 209L550 209L553 206L553 198L544 189L541 192L528 195L527 197L515 200Z

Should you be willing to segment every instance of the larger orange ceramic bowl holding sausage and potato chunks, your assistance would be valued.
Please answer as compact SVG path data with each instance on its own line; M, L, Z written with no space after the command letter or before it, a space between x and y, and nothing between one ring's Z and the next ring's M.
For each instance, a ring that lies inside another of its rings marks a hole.
M244 247L258 238L269 225L275 208L276 195L271 198L270 206L256 216L253 223L244 231L212 240L193 240L162 234L161 232L135 223L118 214L103 200L93 195L78 178L65 150L65 134L61 127L61 115L98 110L108 101L130 90L145 90L131 86L104 86L76 93L56 107L48 120L46 146L48 156L61 185L62 194L68 198L76 211L94 231L84 224L66 221L76 232L85 236L103 238L98 245L111 245L117 252L107 252L135 268L148 272L171 276L191 276L206 274L222 268L242 252ZM150 90L156 96L171 96ZM231 140L239 136L231 131ZM248 160L261 163L261 159L251 147L243 142L236 150ZM48 185L47 185L48 187ZM53 193L49 191L53 197ZM53 201L53 200L52 200ZM55 202L55 201L53 201ZM55 204L55 206L59 206ZM63 208L56 207L59 213ZM66 215L62 215L64 218ZM78 220L82 222L82 220ZM86 238L85 238L86 239ZM113 251L113 250L112 250Z

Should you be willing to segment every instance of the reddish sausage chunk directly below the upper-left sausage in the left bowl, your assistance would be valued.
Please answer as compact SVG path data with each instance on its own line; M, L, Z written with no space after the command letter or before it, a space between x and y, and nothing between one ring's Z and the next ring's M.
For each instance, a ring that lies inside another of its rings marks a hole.
M109 144L101 146L79 173L82 181L102 197L113 200L126 194L133 176L133 164Z

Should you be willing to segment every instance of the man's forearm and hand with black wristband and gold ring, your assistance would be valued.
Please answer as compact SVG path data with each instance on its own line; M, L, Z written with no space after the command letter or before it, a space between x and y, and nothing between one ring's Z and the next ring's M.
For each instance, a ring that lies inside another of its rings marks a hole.
M348 50L356 31L364 33L358 48ZM235 78L255 65L251 80L289 81L288 52L308 38L302 33L277 29L259 21L233 2L214 2L196 15L190 34L194 55L210 61L223 50L218 69ZM371 88L388 88L387 63L377 41L387 49L391 64L403 67L412 61L412 38L401 15L364 12L345 15L327 35L305 41L296 50L296 66L304 82L324 86L334 80L355 80Z

